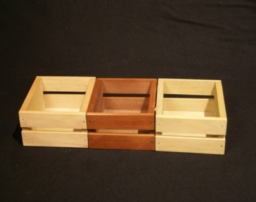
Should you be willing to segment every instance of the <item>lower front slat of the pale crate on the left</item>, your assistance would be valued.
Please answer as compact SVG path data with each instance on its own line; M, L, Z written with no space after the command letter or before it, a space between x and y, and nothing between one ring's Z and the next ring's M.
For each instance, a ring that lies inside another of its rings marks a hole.
M88 148L88 131L22 130L24 146Z

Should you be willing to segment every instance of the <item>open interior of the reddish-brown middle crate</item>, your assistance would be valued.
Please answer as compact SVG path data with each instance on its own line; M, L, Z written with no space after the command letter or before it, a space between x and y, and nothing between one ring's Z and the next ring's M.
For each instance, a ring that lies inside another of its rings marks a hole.
M99 81L98 81L99 82ZM93 112L148 113L152 108L150 80L100 80ZM156 90L155 90L156 93Z

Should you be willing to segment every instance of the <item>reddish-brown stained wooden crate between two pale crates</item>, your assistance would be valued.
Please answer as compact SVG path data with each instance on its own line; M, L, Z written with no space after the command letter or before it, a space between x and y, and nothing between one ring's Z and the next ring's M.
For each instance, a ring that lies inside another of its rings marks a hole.
M86 113L89 148L155 150L157 80L97 78Z

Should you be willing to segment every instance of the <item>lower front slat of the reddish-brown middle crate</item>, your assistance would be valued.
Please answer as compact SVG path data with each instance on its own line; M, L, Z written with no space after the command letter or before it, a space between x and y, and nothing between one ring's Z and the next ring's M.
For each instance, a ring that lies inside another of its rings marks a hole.
M155 150L155 134L88 133L89 148Z

